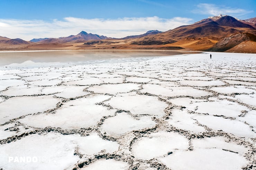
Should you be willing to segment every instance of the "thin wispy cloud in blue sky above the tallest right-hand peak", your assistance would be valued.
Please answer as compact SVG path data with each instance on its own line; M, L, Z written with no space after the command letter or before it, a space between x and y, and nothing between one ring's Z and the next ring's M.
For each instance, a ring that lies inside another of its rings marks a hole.
M225 15L231 15L231 16L235 15L236 17L239 17L247 13L251 13L253 11L248 11L240 8L217 6L216 4L211 4L211 3L199 3L198 5L196 5L196 9L194 9L192 12L200 13L200 14L209 14L212 16L225 14Z

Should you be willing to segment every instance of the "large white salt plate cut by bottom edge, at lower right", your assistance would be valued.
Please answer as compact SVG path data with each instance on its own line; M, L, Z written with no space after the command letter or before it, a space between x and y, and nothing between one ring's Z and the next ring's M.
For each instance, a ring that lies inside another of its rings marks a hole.
M237 170L248 163L244 157L236 153L219 149L177 151L159 160L173 170Z

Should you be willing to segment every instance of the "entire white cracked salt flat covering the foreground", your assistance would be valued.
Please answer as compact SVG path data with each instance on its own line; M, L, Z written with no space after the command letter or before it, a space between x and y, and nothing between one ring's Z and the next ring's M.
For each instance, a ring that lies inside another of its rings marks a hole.
M256 54L211 54L1 64L0 169L256 169Z

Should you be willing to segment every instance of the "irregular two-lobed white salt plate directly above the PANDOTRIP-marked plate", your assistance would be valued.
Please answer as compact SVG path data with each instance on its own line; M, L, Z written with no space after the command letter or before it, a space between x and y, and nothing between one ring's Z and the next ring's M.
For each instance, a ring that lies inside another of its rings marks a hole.
M20 119L20 122L38 128L47 126L63 129L88 128L96 125L102 117L115 114L115 109L95 104L109 98L110 96L95 95L71 100L64 103L54 113L27 116Z

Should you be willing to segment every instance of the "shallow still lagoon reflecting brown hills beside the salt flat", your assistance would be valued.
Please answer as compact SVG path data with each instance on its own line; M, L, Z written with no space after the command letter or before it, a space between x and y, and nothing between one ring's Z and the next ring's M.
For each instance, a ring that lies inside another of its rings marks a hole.
M138 58L172 56L177 54L188 54L188 51L159 51L159 50L49 50L49 51L1 51L0 66L12 63L24 63L32 61L35 63L56 62L88 62L110 59Z

